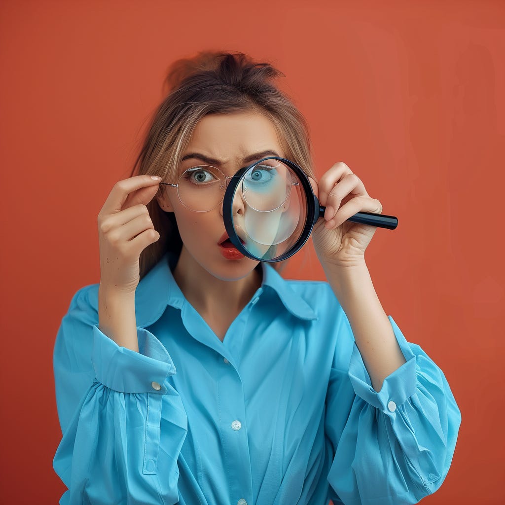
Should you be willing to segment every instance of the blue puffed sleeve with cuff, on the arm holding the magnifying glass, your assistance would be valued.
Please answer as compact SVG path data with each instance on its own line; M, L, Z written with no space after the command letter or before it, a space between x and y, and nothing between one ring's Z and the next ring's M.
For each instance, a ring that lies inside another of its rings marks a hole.
M417 503L447 475L461 423L455 398L442 371L406 341L391 316L406 363L375 391L343 321L339 341L352 343L347 360L335 353L326 399L330 498L345 505Z

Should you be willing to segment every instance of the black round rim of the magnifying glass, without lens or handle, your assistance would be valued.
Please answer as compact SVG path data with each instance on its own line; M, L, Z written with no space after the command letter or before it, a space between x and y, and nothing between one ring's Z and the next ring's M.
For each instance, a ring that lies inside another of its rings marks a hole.
M305 191L307 200L305 225L298 240L281 256L271 260L258 258L257 256L251 254L242 245L242 242L240 241L240 238L238 237L235 231L235 227L233 226L233 197L235 195L235 190L237 189L238 185L242 182L244 174L248 170L255 167L256 165L259 165L260 163L263 163L266 160L277 160L284 163L284 165L287 165L298 176L301 186ZM237 173L230 178L230 181L228 182L228 187L226 188L224 194L223 220L226 233L228 233L231 243L237 248L237 250L240 251L247 258L250 258L251 260L262 261L265 263L277 263L279 261L291 258L291 256L293 256L298 250L300 250L300 248L305 244L305 242L307 242L308 238L311 235L312 228L314 227L314 223L317 221L318 217L319 217L319 201L317 201L317 197L314 194L314 191L312 190L309 178L307 177L305 172L301 170L301 168L298 167L298 165L296 165L296 163L293 163L290 160L286 160L285 158L280 158L278 156L267 156L266 158L262 158L261 160L251 163L249 166L243 167L240 170L238 170Z

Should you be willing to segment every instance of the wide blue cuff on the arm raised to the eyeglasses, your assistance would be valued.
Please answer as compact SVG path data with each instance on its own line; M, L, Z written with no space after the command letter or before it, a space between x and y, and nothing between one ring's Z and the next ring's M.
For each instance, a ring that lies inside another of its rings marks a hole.
M139 352L119 346L93 325L91 361L96 379L122 393L165 394L165 379L176 373L164 345L149 331L137 327Z

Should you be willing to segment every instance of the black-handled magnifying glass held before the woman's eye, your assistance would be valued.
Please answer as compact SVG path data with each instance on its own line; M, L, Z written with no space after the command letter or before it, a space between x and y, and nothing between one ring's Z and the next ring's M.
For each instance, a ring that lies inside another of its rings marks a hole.
M269 157L241 168L230 178L223 218L231 243L252 260L275 263L297 252L326 207L292 161ZM394 230L398 219L359 212L347 221Z

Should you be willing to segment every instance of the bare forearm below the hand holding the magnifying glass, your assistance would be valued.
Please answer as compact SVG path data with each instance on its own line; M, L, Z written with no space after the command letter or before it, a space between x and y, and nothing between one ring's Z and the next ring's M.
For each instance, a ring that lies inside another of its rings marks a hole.
M326 266L326 278L349 320L376 391L384 379L406 362L391 323L377 297L366 263L352 267Z

